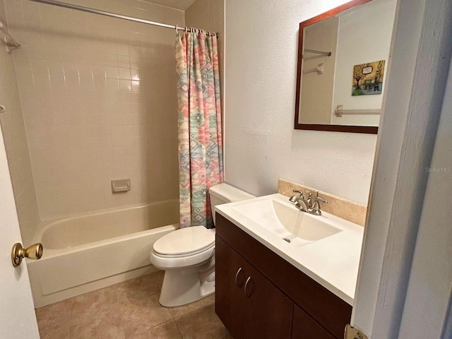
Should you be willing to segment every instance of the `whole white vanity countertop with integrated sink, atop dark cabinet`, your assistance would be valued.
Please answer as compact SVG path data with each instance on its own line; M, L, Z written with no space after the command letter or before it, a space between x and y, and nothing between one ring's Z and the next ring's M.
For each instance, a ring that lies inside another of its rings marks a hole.
M224 203L215 211L353 304L364 227L324 211L302 212L278 193Z

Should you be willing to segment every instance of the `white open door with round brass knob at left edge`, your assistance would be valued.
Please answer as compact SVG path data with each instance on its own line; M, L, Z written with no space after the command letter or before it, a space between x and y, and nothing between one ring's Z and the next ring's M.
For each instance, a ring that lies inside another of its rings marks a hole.
M11 263L16 242L22 239L0 127L0 338L40 338L25 260Z

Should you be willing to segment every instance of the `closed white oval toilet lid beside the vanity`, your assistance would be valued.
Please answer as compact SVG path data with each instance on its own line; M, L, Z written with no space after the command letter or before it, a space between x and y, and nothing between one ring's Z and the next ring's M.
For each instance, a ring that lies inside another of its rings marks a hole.
M181 228L164 235L154 243L154 251L164 255L181 255L206 249L215 243L215 233L206 227Z

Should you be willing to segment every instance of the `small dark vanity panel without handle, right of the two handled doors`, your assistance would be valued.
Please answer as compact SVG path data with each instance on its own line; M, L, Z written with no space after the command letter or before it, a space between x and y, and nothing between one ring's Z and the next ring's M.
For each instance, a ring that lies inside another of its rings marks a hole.
M334 337L309 314L294 305L292 339L334 339Z

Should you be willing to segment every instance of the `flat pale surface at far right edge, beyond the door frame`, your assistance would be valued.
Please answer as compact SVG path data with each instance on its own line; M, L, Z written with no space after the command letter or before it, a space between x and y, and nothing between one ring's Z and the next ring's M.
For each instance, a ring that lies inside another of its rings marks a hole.
M452 338L452 63L436 133L429 179L399 338Z

